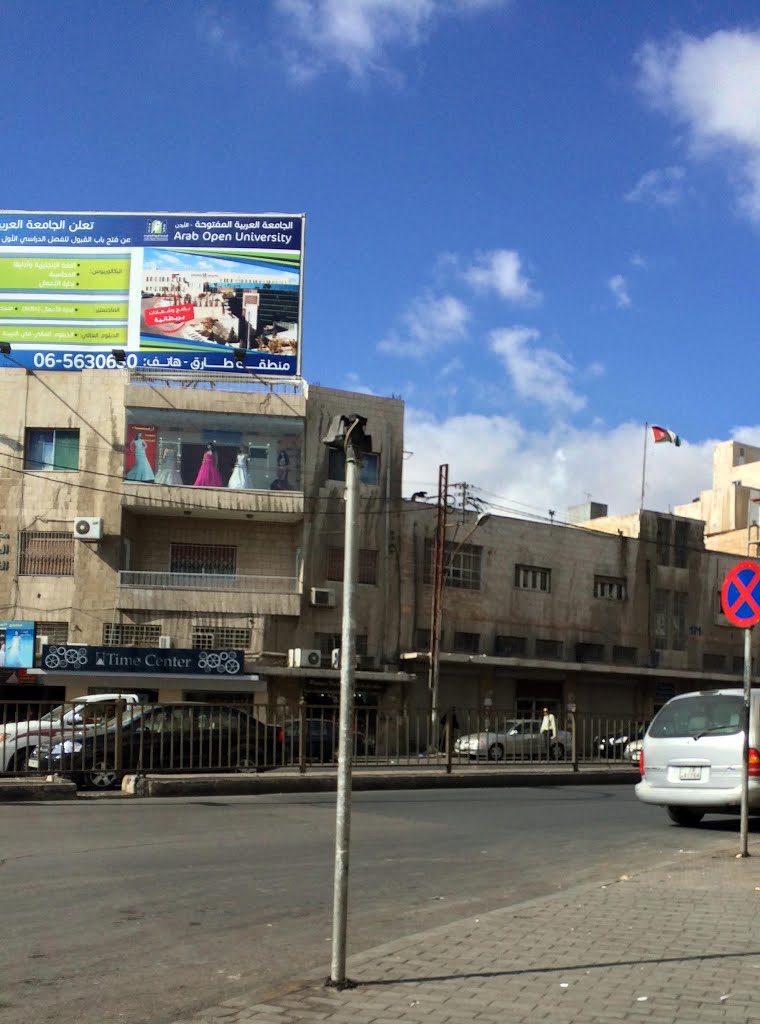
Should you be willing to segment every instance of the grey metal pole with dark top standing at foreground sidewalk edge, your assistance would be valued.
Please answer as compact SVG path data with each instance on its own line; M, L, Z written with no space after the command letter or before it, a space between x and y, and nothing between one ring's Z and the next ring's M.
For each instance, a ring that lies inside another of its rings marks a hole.
M351 756L353 754L353 680L356 666L356 513L361 451L351 440L358 425L354 420L345 438L345 544L343 550L343 621L340 640L340 720L338 725L338 795L335 809L335 876L333 881L333 946L329 984L353 986L346 979L346 933L348 921L348 859L351 833Z

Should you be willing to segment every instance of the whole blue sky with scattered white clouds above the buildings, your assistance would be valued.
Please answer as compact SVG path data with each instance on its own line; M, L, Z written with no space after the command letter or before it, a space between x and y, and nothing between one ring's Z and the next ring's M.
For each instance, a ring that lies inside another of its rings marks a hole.
M558 519L760 443L760 10L4 0L6 209L304 212L303 372Z

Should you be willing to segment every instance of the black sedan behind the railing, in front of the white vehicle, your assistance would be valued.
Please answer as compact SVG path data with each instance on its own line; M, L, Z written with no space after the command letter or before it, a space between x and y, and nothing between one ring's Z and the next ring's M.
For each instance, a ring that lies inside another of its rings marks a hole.
M140 705L99 727L40 743L30 768L114 787L134 771L241 771L281 762L283 730L238 708L184 702Z

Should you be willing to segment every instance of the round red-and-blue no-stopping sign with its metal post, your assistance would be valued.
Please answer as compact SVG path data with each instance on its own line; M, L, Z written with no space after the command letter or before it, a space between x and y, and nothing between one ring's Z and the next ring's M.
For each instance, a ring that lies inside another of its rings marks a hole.
M760 565L744 561L733 566L723 580L720 602L726 618L745 631L744 709L742 727L742 818L740 857L749 857L750 817L750 707L752 694L752 627L760 622Z

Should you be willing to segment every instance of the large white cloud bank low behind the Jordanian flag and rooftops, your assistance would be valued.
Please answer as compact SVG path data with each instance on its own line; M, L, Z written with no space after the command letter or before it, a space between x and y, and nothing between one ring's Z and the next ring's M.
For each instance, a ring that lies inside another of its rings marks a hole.
M404 446L413 455L404 464L404 494L436 494L438 466L448 463L450 480L466 480L479 488L478 497L515 515L547 518L554 509L563 521L571 506L588 501L608 505L610 515L635 513L643 436L643 423L534 432L511 417L436 419L407 406ZM750 443L748 435L742 437ZM644 507L666 511L709 487L714 444L650 444Z

